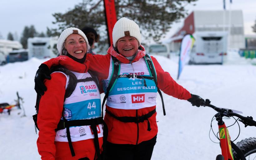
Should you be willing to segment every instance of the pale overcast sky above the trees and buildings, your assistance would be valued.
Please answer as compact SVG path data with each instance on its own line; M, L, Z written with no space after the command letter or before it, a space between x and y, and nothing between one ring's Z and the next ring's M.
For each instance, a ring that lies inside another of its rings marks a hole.
M230 8L230 0L226 0L226 9ZM56 27L52 16L56 12L66 12L82 0L0 0L0 34L4 39L8 32L15 32L20 38L24 26L34 25L38 32L46 32L46 27ZM255 34L251 26L256 20L256 0L232 0L232 10L242 10L244 17L244 34ZM188 13L193 10L222 10L223 0L198 0L196 6L188 4ZM175 23L167 37L172 35L183 21Z

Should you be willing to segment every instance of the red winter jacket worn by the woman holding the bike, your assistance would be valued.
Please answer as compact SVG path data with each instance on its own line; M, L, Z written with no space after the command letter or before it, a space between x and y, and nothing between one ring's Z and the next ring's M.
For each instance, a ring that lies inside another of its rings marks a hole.
M145 56L145 49L143 46L140 46L142 50L138 50L138 53L132 62L140 60ZM130 63L130 60L126 59L121 54L118 54L113 47L111 46L108 49L107 55L87 55L87 59L90 61L90 70L96 72L97 76L102 79L107 79L109 75L109 67L110 67L110 58L111 55L116 57L121 63ZM62 64L62 56L55 60L49 60L44 62L50 68L53 65ZM151 56L151 59L154 63L156 74L157 74L157 83L160 90L164 93L171 95L178 99L189 99L191 95L189 91L183 88L181 85L177 84L175 80L172 79L168 72L165 72L158 61ZM130 72L132 73L132 71ZM106 106L106 109L110 111L112 114L123 117L136 117L136 111L138 112L138 116L142 116L147 114L148 112L155 109L156 106L142 108L142 109L114 109L109 106ZM104 120L108 126L108 138L107 140L111 143L116 144L139 144L143 141L150 140L153 138L157 132L157 124L156 124L156 113L153 114L149 118L151 131L147 131L147 121L139 123L138 126L136 123L123 123L119 120L111 117L109 114L106 114Z

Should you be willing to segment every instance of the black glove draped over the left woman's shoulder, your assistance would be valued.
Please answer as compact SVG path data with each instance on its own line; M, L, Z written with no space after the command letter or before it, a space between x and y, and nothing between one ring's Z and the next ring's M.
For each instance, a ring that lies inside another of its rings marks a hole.
M44 92L47 90L43 83L45 79L51 79L50 70L46 64L41 64L35 76L35 90L39 95L44 95Z

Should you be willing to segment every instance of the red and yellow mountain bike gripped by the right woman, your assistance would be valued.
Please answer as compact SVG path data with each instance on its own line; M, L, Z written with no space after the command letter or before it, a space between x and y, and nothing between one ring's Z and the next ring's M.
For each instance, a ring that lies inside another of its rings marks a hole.
M240 111L215 107L214 105L210 104L209 99L206 99L203 105L208 106L218 112L214 117L218 121L219 140L222 154L219 154L216 157L216 160L246 160L246 158L249 160L251 155L256 153L256 138L247 138L238 142L237 144L234 144L230 140L229 131L223 121L223 117L238 117L236 122L239 120L245 125L245 127L256 126L256 121L254 121L251 116L244 117L238 114L242 113ZM253 159L256 160L256 156L251 158L251 160Z

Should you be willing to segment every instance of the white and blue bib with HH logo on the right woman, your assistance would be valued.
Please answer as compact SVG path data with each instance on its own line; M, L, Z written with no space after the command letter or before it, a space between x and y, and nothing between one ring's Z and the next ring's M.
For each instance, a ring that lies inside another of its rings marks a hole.
M105 94L112 76L112 61L111 57L109 76L103 83ZM144 58L141 58L139 61L133 62L132 64L120 63L119 75L130 74L150 76ZM115 109L141 109L152 107L156 105L156 92L157 86L155 85L154 80L119 77L109 92L106 105Z

